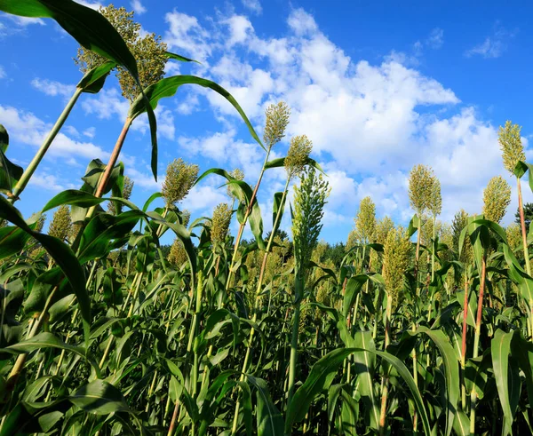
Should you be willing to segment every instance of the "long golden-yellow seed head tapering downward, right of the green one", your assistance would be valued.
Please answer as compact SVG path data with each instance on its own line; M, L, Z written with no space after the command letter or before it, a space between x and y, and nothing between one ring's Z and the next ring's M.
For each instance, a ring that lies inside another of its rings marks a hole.
M402 226L387 234L383 248L383 274L387 295L392 298L393 310L398 305L404 275L410 266L411 248L409 236Z

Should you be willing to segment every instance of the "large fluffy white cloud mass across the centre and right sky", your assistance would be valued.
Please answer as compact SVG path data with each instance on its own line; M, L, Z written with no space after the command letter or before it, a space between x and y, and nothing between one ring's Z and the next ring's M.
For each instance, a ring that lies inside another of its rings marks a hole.
M288 137L306 133L329 175L327 226L351 226L358 202L366 195L376 202L379 215L409 220L407 184L416 163L433 166L441 178L445 219L461 207L480 210L489 178L505 175L495 126L483 121L473 107L462 105L444 83L422 74L402 53L378 62L353 59L304 9L290 12L281 38L257 35L253 20L235 13L203 21L174 11L166 20L167 41L188 54L205 56L209 67L198 67L199 71L235 96L258 131L269 103L283 99L290 105ZM418 53L414 47L414 56L442 44L443 31L434 28L418 42ZM194 149L195 155L228 169L239 164L260 168L259 147L235 137L241 123L235 109L204 91L191 94L193 107L199 95L207 98L225 130L180 137L181 149ZM286 146L280 147L276 153L283 155ZM280 178L271 176L269 183ZM265 191L260 202L268 210L267 195L274 191ZM506 220L512 220L511 213Z

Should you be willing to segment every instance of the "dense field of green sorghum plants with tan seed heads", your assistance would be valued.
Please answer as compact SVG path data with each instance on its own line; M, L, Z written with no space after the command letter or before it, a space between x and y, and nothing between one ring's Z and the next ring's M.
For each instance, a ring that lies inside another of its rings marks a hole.
M439 180L417 165L410 225L377 219L367 197L354 205L346 246L333 250L318 242L330 187L311 140L290 138L288 155L271 158L290 123L283 102L268 107L259 138L217 83L164 77L167 61L192 59L139 36L123 9L0 0L0 10L56 20L81 44L83 72L27 168L9 160L0 125L0 434L533 432L533 235L520 184L533 178L519 126L505 123L499 142L520 226L498 224L511 201L499 176L479 215L460 210L442 223ZM131 107L111 159L91 161L79 189L22 217L17 202L72 107L112 71ZM133 204L120 162L131 123L147 113L156 177L154 108L183 84L235 107L264 150L260 177L199 174L176 156L162 191ZM285 171L286 185L265 233L256 196L272 170ZM211 218L191 217L180 202L204 178L218 178L228 202ZM279 228L283 214L290 234Z

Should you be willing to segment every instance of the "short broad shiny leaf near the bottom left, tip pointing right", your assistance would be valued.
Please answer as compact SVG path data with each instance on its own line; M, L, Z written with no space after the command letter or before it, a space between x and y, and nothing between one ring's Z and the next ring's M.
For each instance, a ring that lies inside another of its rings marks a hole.
M104 380L94 380L68 397L78 408L94 415L130 412L123 394Z

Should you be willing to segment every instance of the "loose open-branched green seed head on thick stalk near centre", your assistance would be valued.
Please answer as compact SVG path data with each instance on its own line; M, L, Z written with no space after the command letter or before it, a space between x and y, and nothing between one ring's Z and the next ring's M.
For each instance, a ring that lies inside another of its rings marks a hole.
M330 195L330 187L322 174L316 175L314 168L307 169L300 180L300 186L294 187L292 238L294 258L303 271L322 230L323 207Z

